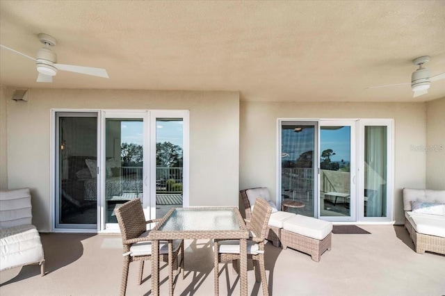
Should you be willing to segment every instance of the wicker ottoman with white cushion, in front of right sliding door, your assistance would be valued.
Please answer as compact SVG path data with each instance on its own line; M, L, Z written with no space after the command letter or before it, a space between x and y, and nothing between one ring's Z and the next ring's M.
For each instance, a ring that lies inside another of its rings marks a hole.
M331 249L332 223L313 217L295 215L283 222L281 243L320 261L321 254Z

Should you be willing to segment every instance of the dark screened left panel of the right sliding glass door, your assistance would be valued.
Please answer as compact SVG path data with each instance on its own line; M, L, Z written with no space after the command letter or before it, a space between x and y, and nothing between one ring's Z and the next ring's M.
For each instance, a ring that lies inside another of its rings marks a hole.
M309 122L282 122L281 126L281 203L297 201L302 208L287 211L315 217L315 167L318 164L316 124Z

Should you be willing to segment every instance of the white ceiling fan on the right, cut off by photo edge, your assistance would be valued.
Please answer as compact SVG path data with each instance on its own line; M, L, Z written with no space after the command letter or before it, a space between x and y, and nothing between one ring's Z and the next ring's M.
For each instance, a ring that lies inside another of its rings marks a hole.
M430 70L428 70L426 67L423 67L423 64L428 63L429 60L429 56L421 56L420 58L416 58L412 61L414 65L419 65L419 69L416 69L416 71L412 72L411 83L380 85L373 86L371 88L387 88L389 86L411 84L411 90L414 92L412 97L415 98L421 96L422 94L426 94L428 93L428 88L430 88L430 85L433 81L445 79L445 73L437 74L430 77Z

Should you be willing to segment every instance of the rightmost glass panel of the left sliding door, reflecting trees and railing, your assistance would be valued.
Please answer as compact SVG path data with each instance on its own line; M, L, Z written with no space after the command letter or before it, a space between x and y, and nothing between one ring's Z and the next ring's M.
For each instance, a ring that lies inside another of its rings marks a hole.
M183 206L184 122L156 118L156 217Z

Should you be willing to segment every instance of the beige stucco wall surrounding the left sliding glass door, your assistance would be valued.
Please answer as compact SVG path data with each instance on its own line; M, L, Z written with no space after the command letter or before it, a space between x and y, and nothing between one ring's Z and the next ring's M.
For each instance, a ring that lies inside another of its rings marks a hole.
M238 92L31 89L8 106L8 186L31 188L39 231L51 221L51 108L190 110L190 206L238 205Z

